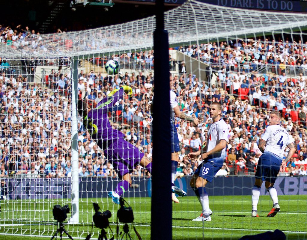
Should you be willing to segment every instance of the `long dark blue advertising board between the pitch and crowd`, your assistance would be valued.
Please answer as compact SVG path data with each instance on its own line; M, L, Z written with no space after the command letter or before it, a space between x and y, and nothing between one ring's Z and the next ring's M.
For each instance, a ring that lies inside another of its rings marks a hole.
M3 179L2 179L3 180ZM185 190L189 196L194 191L189 185L191 176L177 179L175 184ZM8 199L62 199L71 198L71 179L4 179ZM118 180L113 178L84 177L79 178L80 198L107 197L107 192L114 190ZM208 195L250 195L255 184L251 176L216 177L206 186ZM278 195L307 195L307 177L278 177L274 188ZM264 184L261 195L267 195ZM132 187L125 196L151 197L151 179L134 178Z

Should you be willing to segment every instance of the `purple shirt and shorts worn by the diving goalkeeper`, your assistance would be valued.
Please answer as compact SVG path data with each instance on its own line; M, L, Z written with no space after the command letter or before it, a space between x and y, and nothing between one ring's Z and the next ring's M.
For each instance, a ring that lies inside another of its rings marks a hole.
M87 125L93 140L103 149L105 157L111 162L119 177L122 177L140 164L144 153L124 140L125 135L113 129L109 122L109 108L112 109L119 99L124 99L123 88L113 96L102 99L95 109L88 112L83 123L84 126Z

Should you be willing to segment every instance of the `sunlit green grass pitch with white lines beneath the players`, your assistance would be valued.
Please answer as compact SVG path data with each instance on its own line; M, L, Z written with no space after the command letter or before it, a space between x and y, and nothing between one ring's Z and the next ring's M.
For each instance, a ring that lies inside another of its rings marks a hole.
M135 226L143 240L150 239L150 198L126 198L134 211ZM307 239L307 196L306 195L288 195L279 196L279 205L281 212L274 218L267 218L266 215L272 207L269 196L260 196L258 204L259 218L251 218L251 196L209 196L210 208L213 211L212 222L192 222L201 211L200 203L196 196L179 198L181 203L173 204L173 239L239 239L244 235L263 233L266 230L279 229L284 231L287 239ZM85 239L87 231L91 231L92 204L98 202L103 211L110 210L112 217L110 219L111 229L115 231L116 213L118 205L111 203L111 199L85 199L80 200L80 222L81 225L67 225L66 230L76 239ZM103 202L103 203L102 203ZM52 207L57 204L55 200L50 203L21 203L18 201L0 201L2 212L0 213L0 224L21 223L19 221L3 221L8 217L6 208L25 209L31 207L27 215L23 211L14 212L14 217L26 219L36 219L44 221L53 221ZM27 205L25 205L27 204ZM60 204L62 204L60 202ZM44 211L41 211L43 210ZM44 213L44 214L43 214ZM5 215L6 214L6 215ZM12 214L12 211L10 211ZM19 214L19 215L18 215ZM23 214L23 216L21 216ZM163 215L161 216L163 221ZM35 223L34 221L23 221L24 224ZM30 230L31 229L31 230ZM122 226L121 226L122 229ZM134 239L136 235L131 229L131 236ZM50 239L56 227L53 225L32 225L28 226L1 226L0 235L2 240L17 239ZM163 229L161 229L163 231ZM98 230L94 227L95 235L92 239L98 238ZM11 236L7 234L22 234L24 236ZM49 238L29 237L28 234L39 234L49 236ZM80 237L80 238L77 238ZM125 238L124 238L125 239ZM167 240L167 239L165 239Z

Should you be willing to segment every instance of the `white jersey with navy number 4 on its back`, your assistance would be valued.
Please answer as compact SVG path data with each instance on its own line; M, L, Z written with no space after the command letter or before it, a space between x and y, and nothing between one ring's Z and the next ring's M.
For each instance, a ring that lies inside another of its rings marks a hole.
M280 158L283 158L286 146L293 143L286 129L279 124L267 126L261 139L266 141L264 151L274 153Z

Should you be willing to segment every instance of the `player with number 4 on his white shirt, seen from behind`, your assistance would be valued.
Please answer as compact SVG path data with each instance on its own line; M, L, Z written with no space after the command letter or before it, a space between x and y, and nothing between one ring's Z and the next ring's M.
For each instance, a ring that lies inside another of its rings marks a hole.
M267 217L275 217L280 211L278 197L274 183L278 172L286 171L286 162L295 153L296 148L286 129L279 125L281 114L278 111L271 111L268 119L269 126L266 127L264 134L259 140L258 147L262 152L259 158L255 185L252 190L252 217L259 217L257 214L257 205L260 195L260 187L265 181L266 190L273 201L273 208ZM286 146L290 149L287 157L283 160Z

